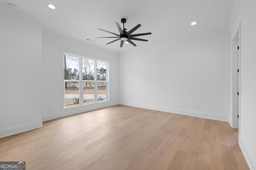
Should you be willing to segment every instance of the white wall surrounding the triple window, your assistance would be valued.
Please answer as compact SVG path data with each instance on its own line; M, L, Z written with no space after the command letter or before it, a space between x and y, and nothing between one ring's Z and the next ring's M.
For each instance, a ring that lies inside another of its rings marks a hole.
M62 109L61 86L63 81L62 51L87 56L109 62L110 100L82 107ZM86 43L78 39L60 35L43 29L42 31L42 120L56 119L102 107L118 104L118 53ZM50 111L48 111L50 108Z

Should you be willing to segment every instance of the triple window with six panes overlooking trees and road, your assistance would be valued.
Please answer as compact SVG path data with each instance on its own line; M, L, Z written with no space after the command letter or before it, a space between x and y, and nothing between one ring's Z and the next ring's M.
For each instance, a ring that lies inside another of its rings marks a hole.
M108 62L64 53L64 107L108 101Z

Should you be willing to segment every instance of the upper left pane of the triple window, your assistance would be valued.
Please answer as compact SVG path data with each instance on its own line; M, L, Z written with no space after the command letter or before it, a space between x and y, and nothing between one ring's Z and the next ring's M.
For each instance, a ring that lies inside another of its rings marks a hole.
M79 58L64 55L64 80L79 80Z

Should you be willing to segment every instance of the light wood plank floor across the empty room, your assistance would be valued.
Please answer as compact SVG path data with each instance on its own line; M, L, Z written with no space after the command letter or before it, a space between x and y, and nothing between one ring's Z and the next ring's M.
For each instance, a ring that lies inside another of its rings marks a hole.
M229 123L129 106L46 121L0 138L27 170L248 170Z

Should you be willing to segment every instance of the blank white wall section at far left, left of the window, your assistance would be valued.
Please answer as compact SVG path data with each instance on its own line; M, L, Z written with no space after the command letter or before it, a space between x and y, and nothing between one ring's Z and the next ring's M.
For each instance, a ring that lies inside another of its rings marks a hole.
M42 127L41 21L0 5L0 137Z

